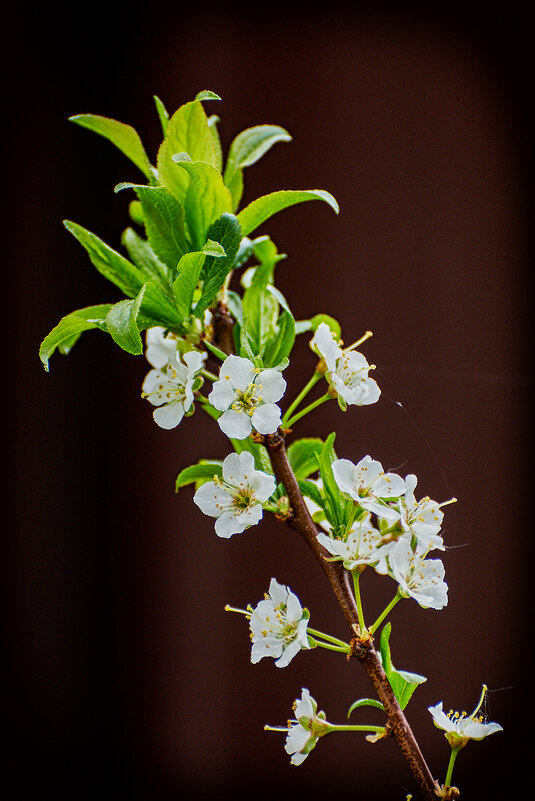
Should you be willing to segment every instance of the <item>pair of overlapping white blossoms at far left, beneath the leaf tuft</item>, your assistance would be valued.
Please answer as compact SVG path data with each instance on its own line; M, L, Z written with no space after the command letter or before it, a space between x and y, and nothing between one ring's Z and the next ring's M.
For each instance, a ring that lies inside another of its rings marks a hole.
M206 354L191 350L181 360L176 337L165 336L165 329L159 326L147 331L146 342L145 355L154 369L145 376L142 396L157 407L152 416L160 428L175 428L192 410Z

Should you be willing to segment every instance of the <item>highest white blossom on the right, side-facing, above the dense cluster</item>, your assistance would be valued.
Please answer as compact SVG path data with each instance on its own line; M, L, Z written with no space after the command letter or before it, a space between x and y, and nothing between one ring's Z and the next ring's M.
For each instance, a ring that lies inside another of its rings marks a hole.
M320 323L310 346L325 362L325 378L338 396L341 408L368 406L379 400L381 390L368 375L373 365L351 347L343 350L327 323Z

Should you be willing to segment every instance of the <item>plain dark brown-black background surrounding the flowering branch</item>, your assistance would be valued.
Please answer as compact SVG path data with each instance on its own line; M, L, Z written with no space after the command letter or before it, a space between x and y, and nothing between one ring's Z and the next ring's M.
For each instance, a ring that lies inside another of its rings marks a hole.
M338 217L308 203L261 232L288 254L278 285L297 318L331 313L347 342L374 332L363 351L383 395L345 415L324 406L296 433L336 430L339 456L370 453L416 473L421 495L458 498L445 509L448 606L408 601L392 616L394 663L428 677L408 708L428 762L443 781L448 747L426 707L470 711L485 682L504 732L468 746L455 783L467 799L499 797L522 770L529 25L511 5L374 8L26 7L5 28L6 798L329 789L393 801L415 789L391 742L329 737L295 768L283 735L263 730L285 723L301 687L332 722L371 688L357 664L320 649L281 671L250 664L245 621L223 607L256 603L271 576L312 625L346 632L297 535L267 519L220 540L191 492L174 494L179 469L226 455L219 430L200 414L157 428L140 399L145 361L100 332L56 355L50 375L38 360L61 316L119 299L61 220L118 247L128 199L112 190L139 177L67 117L128 122L155 159L152 95L173 111L201 89L223 99L206 108L221 117L225 150L259 123L293 135L248 169L244 203L290 188L327 189L340 203ZM287 397L312 369L304 340ZM394 589L374 578L363 578L370 618Z

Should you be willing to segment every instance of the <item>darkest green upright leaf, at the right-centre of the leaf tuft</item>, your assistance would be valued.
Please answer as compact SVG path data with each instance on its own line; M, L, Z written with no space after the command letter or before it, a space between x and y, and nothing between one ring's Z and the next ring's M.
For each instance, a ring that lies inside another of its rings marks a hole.
M214 248L213 243L218 243L225 255L208 255L206 257L202 272L203 289L195 306L195 315L199 318L202 317L205 309L209 308L234 266L241 242L241 230L237 217L224 212L210 225L206 236L208 241L212 242L212 249Z

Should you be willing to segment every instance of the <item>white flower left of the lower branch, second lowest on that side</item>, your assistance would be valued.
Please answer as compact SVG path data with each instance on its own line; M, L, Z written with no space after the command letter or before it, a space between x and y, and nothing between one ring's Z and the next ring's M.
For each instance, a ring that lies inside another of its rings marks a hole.
M251 612L251 662L271 656L277 667L286 667L301 648L309 648L308 617L299 598L272 578L269 594Z

